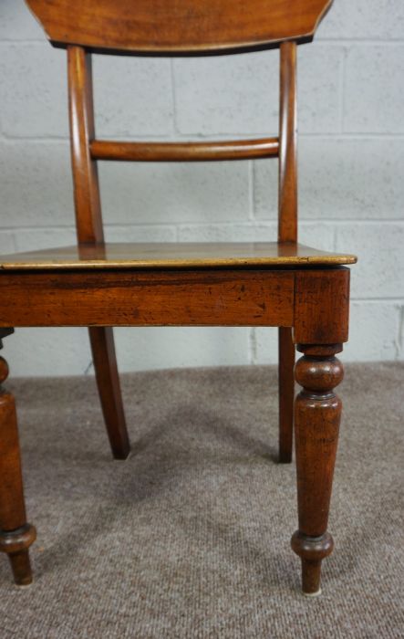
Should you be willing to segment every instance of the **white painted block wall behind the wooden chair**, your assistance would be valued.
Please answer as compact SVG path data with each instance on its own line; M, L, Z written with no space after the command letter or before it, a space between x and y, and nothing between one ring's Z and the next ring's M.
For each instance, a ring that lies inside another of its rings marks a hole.
M335 0L299 48L300 241L357 253L345 361L404 359L404 4ZM278 53L95 58L99 136L276 134ZM75 241L66 54L0 2L0 251ZM100 166L110 241L275 239L276 162ZM274 363L274 329L119 329L122 371ZM92 372L85 329L17 330L14 375Z

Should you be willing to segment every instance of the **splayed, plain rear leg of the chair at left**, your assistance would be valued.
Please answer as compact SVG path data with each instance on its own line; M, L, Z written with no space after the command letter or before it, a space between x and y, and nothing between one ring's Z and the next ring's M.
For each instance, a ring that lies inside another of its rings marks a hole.
M102 413L109 436L112 455L126 459L130 445L120 393L119 373L111 327L89 327L89 340L93 355Z

